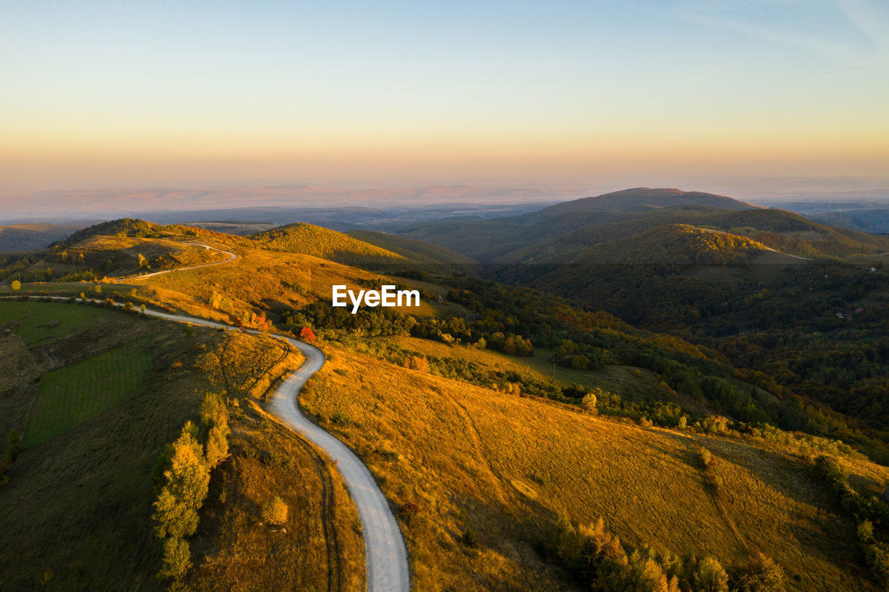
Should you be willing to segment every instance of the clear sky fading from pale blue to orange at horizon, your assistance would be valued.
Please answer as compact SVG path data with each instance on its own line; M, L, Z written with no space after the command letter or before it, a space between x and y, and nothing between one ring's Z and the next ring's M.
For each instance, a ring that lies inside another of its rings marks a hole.
M0 3L5 188L887 165L885 0Z

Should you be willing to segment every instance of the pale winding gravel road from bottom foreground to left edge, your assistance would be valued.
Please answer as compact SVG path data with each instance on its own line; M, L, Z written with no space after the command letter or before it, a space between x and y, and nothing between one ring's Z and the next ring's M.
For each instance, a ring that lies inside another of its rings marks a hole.
M44 296L42 298L68 300L60 296ZM77 298L76 300L81 299ZM116 303L116 306L123 305ZM148 309L144 314L177 323L196 324L217 329L235 329L231 325L196 316L174 315ZM247 332L259 333L255 330L247 330ZM324 365L324 352L303 341L274 333L269 334L290 343L306 356L306 361L300 365L296 372L292 372L284 378L284 381L276 389L270 411L292 430L327 452L336 463L343 482L345 482L352 500L355 501L358 518L362 524L368 592L406 592L411 588L407 549L404 547L404 539L395 516L392 515L392 510L388 507L388 502L380 491L380 487L373 480L370 470L358 459L355 452L309 421L300 412L300 407L297 404L302 385Z

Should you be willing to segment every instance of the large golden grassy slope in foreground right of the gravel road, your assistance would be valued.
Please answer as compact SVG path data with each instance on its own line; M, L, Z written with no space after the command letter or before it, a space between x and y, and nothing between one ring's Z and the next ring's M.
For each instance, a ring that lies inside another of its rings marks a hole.
M854 524L803 460L728 438L640 428L332 349L302 404L363 455L402 516L414 586L555 589L546 561L559 516L634 547L739 564L755 551L789 589L876 589ZM332 420L333 418L333 420ZM697 460L706 446L725 486ZM850 463L877 492L885 468ZM477 533L477 556L459 540Z

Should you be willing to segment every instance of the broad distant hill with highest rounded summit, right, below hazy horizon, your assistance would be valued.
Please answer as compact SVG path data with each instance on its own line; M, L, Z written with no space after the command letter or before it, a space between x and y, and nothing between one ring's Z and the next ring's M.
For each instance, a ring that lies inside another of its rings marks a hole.
M439 244L489 263L565 263L597 244L637 236L638 253L664 225L694 227L743 236L799 257L847 256L889 251L889 240L834 228L782 210L701 192L635 188L584 197L517 217L448 220L402 228L403 236ZM652 250L660 249L650 244ZM694 259L694 258L692 258Z

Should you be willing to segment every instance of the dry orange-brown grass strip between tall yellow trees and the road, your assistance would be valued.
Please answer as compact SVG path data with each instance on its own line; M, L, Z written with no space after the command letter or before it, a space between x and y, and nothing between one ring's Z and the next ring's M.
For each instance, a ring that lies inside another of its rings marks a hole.
M199 365L238 403L231 457L214 473L192 549L203 559L188 576L197 590L364 588L357 511L323 452L263 412L258 401L301 356L281 341L229 333ZM223 370L224 369L224 370ZM261 373L260 380L254 380ZM263 524L262 506L280 496L283 525Z

